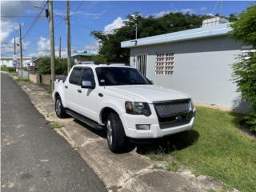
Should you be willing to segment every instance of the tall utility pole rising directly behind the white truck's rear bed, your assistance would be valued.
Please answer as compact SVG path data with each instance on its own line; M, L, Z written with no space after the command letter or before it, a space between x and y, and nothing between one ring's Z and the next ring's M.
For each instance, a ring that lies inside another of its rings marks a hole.
M71 47L70 47L70 1L66 0L66 34L67 34L67 72L70 71Z

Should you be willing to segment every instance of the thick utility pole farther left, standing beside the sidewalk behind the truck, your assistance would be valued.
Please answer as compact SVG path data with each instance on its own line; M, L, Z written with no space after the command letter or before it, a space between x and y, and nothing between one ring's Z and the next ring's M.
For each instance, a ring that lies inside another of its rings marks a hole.
M55 81L55 53L54 53L54 13L53 0L48 1L49 9L49 28L50 28L50 71L51 71L51 90L54 90Z

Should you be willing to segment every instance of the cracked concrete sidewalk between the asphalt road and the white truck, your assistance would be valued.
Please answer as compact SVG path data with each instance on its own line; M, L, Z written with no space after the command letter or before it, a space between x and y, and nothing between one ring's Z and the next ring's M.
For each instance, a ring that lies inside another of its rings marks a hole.
M107 147L105 134L67 118L59 119L54 114L54 102L40 86L21 84L31 102L46 120L57 122L54 129L78 151L94 170L108 190L122 192L166 191L220 191L222 184L206 176L196 177L183 167L178 172L166 170L165 162L153 162L132 150L129 153L113 154Z

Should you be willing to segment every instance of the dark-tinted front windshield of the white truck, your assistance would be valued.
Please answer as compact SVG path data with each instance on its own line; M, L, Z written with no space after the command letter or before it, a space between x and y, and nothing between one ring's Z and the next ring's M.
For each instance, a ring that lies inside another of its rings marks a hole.
M123 86L149 84L142 74L128 67L97 67L96 74L100 86Z

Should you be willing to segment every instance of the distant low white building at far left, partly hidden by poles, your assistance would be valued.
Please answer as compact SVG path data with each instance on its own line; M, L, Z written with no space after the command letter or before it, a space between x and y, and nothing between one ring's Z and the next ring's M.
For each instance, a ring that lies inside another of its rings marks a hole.
M1 66L14 66L14 58L0 58ZM36 58L24 57L22 58L23 67L34 66L34 60ZM20 58L17 58L17 67L19 67Z

